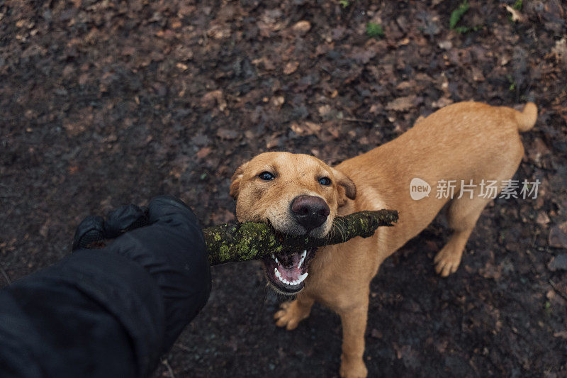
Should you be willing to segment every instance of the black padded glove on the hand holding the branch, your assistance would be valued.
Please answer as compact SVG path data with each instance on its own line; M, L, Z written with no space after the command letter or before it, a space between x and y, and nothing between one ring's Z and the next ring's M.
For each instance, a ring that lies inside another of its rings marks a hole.
M118 236L106 250L138 262L162 290L166 352L185 324L201 311L210 293L210 267L198 220L183 201L157 196L147 208L121 206L108 213L106 220L87 216L77 227L72 250ZM201 290L206 291L206 297L196 296Z

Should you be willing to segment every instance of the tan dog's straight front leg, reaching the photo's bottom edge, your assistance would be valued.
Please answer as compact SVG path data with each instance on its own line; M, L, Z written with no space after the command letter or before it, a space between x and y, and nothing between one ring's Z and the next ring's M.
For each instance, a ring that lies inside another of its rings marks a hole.
M342 355L340 374L343 378L362 378L368 374L362 360L364 332L368 316L368 297L361 304L339 311L342 322Z

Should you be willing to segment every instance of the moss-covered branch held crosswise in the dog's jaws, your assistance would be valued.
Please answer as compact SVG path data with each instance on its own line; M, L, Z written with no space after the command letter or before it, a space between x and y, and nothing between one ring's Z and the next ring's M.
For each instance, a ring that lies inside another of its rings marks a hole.
M272 253L301 251L325 245L344 243L361 236L374 235L379 226L393 226L398 221L398 211L360 211L339 216L333 221L326 238L281 235L266 223L236 223L208 227L203 230L210 265L225 262L255 260Z

